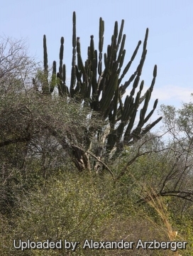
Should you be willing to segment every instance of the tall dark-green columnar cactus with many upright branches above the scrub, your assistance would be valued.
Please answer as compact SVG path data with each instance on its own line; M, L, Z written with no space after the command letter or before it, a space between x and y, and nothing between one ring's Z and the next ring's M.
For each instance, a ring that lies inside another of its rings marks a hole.
M138 53L141 41L138 41L138 45L131 56L131 60L128 61L126 67L121 71L123 67L123 60L126 55L126 49L124 49L126 35L123 34L123 24L121 21L121 28L118 31L118 23L115 22L114 33L111 37L111 44L107 46L106 53L104 53L104 69L102 69L102 56L104 45L104 21L99 19L99 55L94 48L94 36L90 36L90 45L87 51L87 60L83 63L80 47L80 39L76 37L76 14L73 12L73 33L72 33L72 71L70 92L68 92L65 85L65 65L62 65L63 50L64 50L64 38L61 38L60 46L60 68L57 73L57 78L60 78L60 84L58 85L59 95L67 95L69 98L74 98L77 101L84 101L84 105L89 102L89 107L99 112L101 117L109 120L109 132L102 127L97 127L95 135L97 135L99 141L99 147L96 149L103 149L104 155L109 156L111 151L116 154L123 149L123 145L131 145L143 137L147 132L152 129L155 124L160 122L162 117L156 119L153 123L146 125L150 117L152 116L157 104L158 99L155 100L153 110L146 114L148 110L148 103L155 84L155 78L157 75L157 66L155 65L153 70L153 80L143 96L141 96L143 90L144 81L140 81L140 75L142 73L143 64L146 57L146 47L148 41L148 28L145 33L145 40L143 43L143 52L141 54L140 63L136 68L136 71L131 77L121 84L123 78L128 73L129 68L133 60ZM77 60L77 64L76 64ZM46 71L48 63L46 42L44 37L44 68ZM55 75L55 63L53 64L53 78ZM46 71L47 72L47 71ZM125 102L122 97L126 92L126 89L133 82L130 95L126 96ZM139 87L139 89L138 89ZM52 88L52 87L51 87ZM50 91L52 92L53 89ZM135 95L136 90L138 92ZM140 109L140 117L138 124L133 129L134 122L136 120L136 113L139 106L143 103L143 107ZM103 127L105 128L105 127ZM85 137L89 132L89 127L85 129ZM92 138L85 139L84 137L84 150L76 152L75 146L73 146L74 159L76 157L77 166L79 169L84 169L88 166L88 157L85 153L91 147ZM79 144L83 144L79 142ZM69 145L70 146L70 145ZM72 146L71 146L72 148ZM79 149L77 149L79 150ZM72 152L72 151L71 151ZM96 152L95 152L96 153ZM115 154L115 155L116 155ZM97 155L97 154L96 154ZM100 154L101 155L101 154ZM85 160L86 159L86 160ZM81 164L80 164L81 162ZM84 163L84 164L82 164Z

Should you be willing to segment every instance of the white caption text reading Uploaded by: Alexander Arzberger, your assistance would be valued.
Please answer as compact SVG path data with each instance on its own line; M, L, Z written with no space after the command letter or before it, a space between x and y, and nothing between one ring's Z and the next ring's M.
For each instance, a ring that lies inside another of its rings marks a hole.
M158 242L157 240L152 241L143 241L138 240L134 241L94 241L92 239L84 240L80 244L78 241L67 241L67 240L58 240L56 242L46 240L44 242L34 242L31 240L13 240L13 247L17 250L75 250L84 249L84 250L172 250L173 252L177 250L185 250L187 246L186 241L162 241Z

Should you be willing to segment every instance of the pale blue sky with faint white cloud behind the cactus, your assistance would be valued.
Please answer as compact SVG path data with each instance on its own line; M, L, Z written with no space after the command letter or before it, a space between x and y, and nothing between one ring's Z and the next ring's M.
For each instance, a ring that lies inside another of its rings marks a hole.
M89 38L94 35L98 50L99 18L104 20L104 52L111 42L114 22L125 20L125 65L139 40L149 28L148 54L141 78L150 86L153 67L158 65L151 105L180 107L189 102L193 92L193 1L192 0L6 0L1 2L0 35L26 38L28 50L43 60L43 35L47 37L48 61L59 62L60 38L65 38L64 63L70 77L72 62L72 12L77 14L77 36L80 37L83 60L87 57ZM142 47L126 79L138 65ZM57 67L58 68L58 67ZM130 88L129 88L130 89ZM130 90L128 90L129 92ZM155 114L157 116L157 114Z

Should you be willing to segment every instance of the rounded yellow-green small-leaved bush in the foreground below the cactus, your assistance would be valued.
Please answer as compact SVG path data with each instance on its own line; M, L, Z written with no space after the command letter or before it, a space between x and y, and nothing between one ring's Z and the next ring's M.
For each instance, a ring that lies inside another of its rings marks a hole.
M1 222L1 227L6 230L6 233L0 232L1 241L4 241L0 248L1 255L23 255L21 250L13 249L13 238L33 241L78 240L81 245L85 239L168 240L167 229L158 212L148 205L136 207L132 199L133 191L126 196L123 186L120 185L114 186L109 174L99 178L95 174L86 172L77 175L76 172L68 172L67 169L64 174L61 169L60 173L36 186L35 190L20 196L17 210L11 216L11 222L5 217L1 218L4 220ZM161 206L158 203L156 207ZM177 228L175 224L174 228ZM190 225L187 232L185 229L183 232L180 228L177 230L181 235L177 240L190 241ZM132 250L132 253L138 252L143 256L152 251ZM154 255L165 255L165 252L165 250L153 251ZM69 251L26 250L24 253L67 255ZM90 253L90 250L82 250L80 247L73 254L90 255ZM115 251L94 250L92 253L114 255ZM167 250L167 255L172 253ZM186 255L191 255L189 253L191 252L188 247ZM128 251L116 251L116 255L124 254L128 254Z

